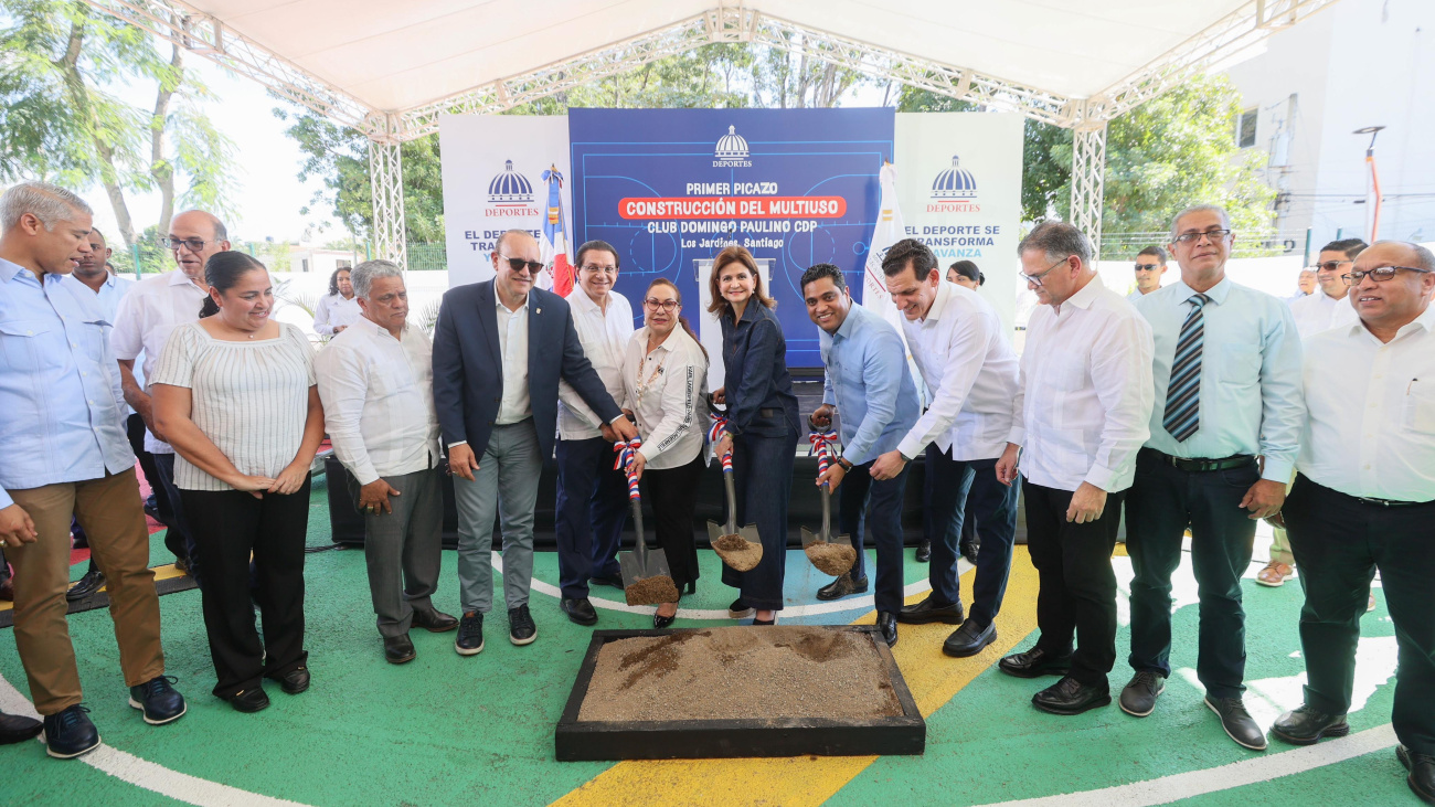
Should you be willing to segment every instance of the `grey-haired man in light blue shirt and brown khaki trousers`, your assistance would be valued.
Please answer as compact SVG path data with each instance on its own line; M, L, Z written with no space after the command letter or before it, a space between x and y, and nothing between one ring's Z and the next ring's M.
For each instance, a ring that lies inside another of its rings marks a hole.
M90 208L44 182L0 197L0 546L14 566L14 642L52 757L99 747L80 706L65 622L70 518L109 580L129 704L145 722L184 715L165 678L149 530L125 439L110 323L65 276L90 251Z

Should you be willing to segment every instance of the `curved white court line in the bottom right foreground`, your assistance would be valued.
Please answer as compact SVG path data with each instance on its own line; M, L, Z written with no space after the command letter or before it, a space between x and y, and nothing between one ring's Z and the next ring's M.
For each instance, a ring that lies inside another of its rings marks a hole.
M1333 765L1353 760L1355 757L1363 757L1372 751L1391 748L1395 742L1395 729L1391 724L1385 724L1352 734L1350 737L1327 740L1319 745L1266 754L1215 768L1172 774L1083 793L1002 801L986 807L1015 807L1017 804L1022 807L1147 807L1152 804L1170 804L1182 798L1244 787L1247 784L1258 784L1323 765Z

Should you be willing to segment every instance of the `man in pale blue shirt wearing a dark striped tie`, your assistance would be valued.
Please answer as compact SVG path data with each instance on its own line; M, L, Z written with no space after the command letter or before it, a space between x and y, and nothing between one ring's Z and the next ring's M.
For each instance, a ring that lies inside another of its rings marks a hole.
M1231 740L1261 751L1266 732L1241 702L1241 574L1256 520L1286 500L1304 409L1296 320L1276 297L1225 277L1234 240L1220 207L1181 211L1171 224L1181 280L1135 302L1155 339L1155 409L1126 497L1135 676L1121 708L1149 715L1171 675L1171 573L1190 528L1205 705Z

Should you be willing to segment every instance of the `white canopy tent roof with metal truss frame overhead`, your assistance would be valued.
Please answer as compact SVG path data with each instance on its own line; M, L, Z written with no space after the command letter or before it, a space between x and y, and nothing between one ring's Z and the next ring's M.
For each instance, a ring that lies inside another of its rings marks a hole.
M86 1L366 134L377 253L406 266L400 142L715 42L1075 129L1099 246L1106 122L1337 0Z

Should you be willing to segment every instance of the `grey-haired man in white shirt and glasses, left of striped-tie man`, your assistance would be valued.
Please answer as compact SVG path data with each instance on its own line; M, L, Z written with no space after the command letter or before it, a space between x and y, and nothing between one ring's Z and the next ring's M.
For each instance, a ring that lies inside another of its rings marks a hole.
M1072 224L1036 225L1017 256L1020 279L1040 306L1027 325L1012 432L996 475L1007 484L1023 478L1040 636L997 666L1017 678L1062 676L1032 705L1076 715L1111 704L1111 553L1137 451L1149 435L1151 326L1102 284L1091 241Z

